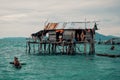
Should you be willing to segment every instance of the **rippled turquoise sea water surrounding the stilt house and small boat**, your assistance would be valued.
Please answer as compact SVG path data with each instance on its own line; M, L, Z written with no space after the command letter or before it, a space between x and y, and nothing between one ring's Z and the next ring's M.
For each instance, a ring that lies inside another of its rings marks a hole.
M120 54L120 45L96 45L96 53ZM25 52L25 39L0 39L0 80L120 80L120 58L37 55ZM17 56L23 65L9 62Z

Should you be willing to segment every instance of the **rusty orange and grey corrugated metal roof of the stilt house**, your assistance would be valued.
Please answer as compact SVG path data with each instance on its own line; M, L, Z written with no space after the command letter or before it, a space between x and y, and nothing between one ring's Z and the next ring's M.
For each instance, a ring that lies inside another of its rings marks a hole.
M78 23L78 22L61 22L61 23L48 23L45 26L45 30L52 29L85 29L85 28L93 28L94 23Z

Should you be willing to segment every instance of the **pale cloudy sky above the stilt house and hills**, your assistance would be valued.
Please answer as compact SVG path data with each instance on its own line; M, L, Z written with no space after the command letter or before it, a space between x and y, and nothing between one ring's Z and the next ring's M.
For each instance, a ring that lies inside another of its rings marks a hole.
M0 0L0 37L29 37L45 22L99 21L104 35L120 37L120 0Z

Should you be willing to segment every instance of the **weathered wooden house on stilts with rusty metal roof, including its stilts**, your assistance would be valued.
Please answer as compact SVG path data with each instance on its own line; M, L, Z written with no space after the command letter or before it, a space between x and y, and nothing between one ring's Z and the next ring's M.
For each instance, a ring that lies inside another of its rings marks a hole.
M94 54L97 24L88 23L91 22L48 23L43 30L31 34L32 39L27 39L26 51L43 55Z

